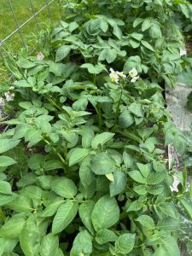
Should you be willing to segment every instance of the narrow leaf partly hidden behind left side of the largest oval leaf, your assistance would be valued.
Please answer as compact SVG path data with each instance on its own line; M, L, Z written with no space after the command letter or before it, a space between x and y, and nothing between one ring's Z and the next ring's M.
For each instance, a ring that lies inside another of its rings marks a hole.
M94 228L91 221L91 214L93 212L93 208L95 206L94 201L86 201L79 206L79 216L81 221L83 222L84 226L87 230L90 231L91 234L94 234Z

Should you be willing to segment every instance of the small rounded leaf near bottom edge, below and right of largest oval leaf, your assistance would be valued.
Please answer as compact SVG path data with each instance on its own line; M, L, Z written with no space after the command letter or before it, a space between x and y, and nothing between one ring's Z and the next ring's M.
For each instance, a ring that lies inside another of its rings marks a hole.
M115 250L117 253L127 255L127 253L131 253L134 245L135 245L135 235L124 234L119 236L117 241L115 241Z

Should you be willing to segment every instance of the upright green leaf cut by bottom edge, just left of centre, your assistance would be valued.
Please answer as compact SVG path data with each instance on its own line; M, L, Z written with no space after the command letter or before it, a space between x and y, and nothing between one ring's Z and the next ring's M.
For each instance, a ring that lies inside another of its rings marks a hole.
M73 241L70 256L90 255L92 253L91 236L87 230L79 232Z

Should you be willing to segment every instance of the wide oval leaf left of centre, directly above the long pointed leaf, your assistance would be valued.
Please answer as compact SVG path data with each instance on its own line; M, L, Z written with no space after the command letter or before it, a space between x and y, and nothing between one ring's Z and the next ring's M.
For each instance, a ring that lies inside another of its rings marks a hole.
M77 187L73 180L67 177L58 177L51 183L51 189L65 198L73 198L77 194Z

